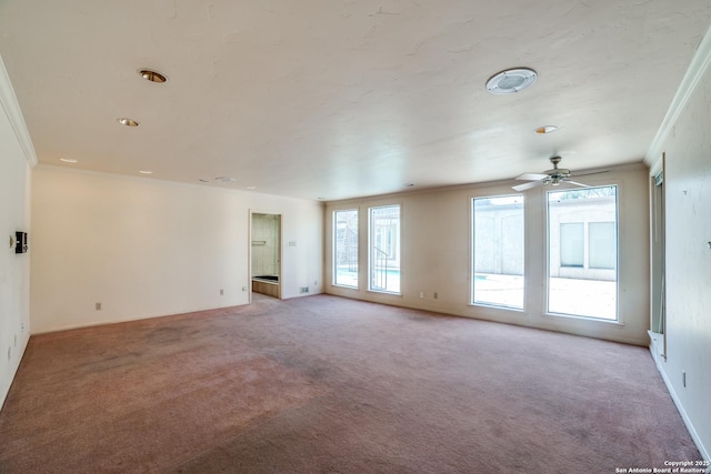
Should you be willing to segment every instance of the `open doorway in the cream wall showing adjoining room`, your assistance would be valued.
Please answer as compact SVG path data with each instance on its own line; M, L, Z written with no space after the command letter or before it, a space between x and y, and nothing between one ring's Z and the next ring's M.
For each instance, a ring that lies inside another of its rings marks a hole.
M252 292L281 299L281 214L251 213Z

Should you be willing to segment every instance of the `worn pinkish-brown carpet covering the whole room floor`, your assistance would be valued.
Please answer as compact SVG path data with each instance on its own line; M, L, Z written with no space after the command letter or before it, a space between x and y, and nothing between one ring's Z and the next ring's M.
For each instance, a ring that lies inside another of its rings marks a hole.
M329 295L32 336L2 473L614 473L700 455L649 351Z

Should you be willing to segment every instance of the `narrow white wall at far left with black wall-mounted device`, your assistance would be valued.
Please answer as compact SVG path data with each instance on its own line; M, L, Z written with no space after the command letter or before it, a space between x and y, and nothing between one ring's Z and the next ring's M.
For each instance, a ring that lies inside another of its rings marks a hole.
M34 159L20 109L0 60L0 406L30 334L30 162ZM10 236L29 233L30 251L16 254Z

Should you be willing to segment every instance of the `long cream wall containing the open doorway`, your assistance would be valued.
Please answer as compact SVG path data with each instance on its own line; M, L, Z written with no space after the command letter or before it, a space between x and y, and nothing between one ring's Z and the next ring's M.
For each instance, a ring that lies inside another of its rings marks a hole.
M296 243L282 297L321 292L319 202L37 167L32 333L249 303L250 211L282 214Z

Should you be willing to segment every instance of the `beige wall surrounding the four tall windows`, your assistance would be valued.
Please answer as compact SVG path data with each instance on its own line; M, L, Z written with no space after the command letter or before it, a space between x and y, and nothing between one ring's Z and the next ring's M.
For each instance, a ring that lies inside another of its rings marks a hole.
M572 168L573 163L569 163ZM645 165L619 167L585 177L592 185L619 185L619 315L620 323L545 314L545 204L543 188L527 192L525 311L469 304L471 262L471 199L512 194L510 183L437 189L422 192L330 202L326 210L326 292L359 300L432 310L461 316L562 331L647 345L649 339L649 202ZM369 292L368 208L402 205L402 295ZM332 216L342 209L360 210L360 289L332 282ZM423 299L419 293L423 292ZM438 299L433 297L438 293Z

